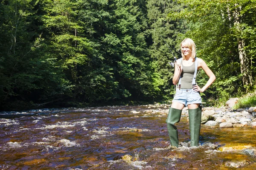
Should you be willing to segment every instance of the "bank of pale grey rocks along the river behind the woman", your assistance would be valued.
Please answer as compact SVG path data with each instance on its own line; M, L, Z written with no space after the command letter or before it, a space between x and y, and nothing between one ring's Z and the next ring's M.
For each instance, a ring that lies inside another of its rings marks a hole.
M169 112L169 105L155 104L146 105L148 110L144 111L144 116L167 116ZM219 126L220 128L232 128L232 127L254 127L256 128L256 112L254 108L237 109L232 108L202 108L201 124L207 126ZM183 108L182 116L187 117L188 120L188 108Z

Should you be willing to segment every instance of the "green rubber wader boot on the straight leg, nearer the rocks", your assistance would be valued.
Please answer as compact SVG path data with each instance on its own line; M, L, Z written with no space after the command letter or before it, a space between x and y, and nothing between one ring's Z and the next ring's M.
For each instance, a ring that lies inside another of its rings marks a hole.
M201 128L202 108L189 109L190 146L198 146Z

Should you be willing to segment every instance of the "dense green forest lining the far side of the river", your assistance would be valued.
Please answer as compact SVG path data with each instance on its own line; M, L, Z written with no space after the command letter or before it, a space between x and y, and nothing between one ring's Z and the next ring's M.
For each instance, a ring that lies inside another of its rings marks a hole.
M255 25L256 0L1 0L0 110L170 103L187 37L220 105L255 89Z

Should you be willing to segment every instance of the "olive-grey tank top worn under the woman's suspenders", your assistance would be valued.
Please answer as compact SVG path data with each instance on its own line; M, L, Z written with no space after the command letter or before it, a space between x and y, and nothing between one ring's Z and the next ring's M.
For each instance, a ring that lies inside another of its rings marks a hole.
M183 61L181 61L181 65L183 71L181 73L181 86L182 89L191 89L192 88L192 80L195 73L195 62L191 66L183 66Z

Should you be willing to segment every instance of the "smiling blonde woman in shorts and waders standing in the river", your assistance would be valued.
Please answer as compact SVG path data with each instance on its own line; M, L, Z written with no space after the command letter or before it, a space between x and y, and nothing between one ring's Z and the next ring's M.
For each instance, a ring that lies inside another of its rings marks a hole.
M186 38L180 43L180 47L182 58L175 62L175 71L172 79L173 84L178 84L178 86L166 119L167 129L171 145L178 147L177 127L174 124L180 122L181 111L184 106L188 106L190 146L198 146L202 114L200 93L209 88L215 80L215 75L203 59L195 57L195 42L193 40ZM196 73L200 68L209 77L206 85L202 88L195 83Z

